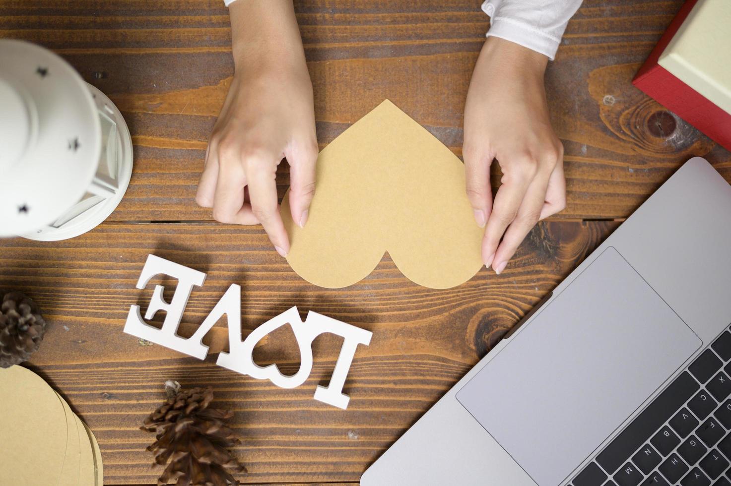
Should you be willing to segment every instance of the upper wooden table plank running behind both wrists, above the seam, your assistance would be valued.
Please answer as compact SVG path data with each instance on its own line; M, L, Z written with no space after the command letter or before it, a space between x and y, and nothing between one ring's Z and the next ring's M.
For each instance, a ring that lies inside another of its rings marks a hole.
M0 37L40 42L121 108L135 173L112 220L210 220L193 197L232 75L219 0L8 0ZM632 213L690 156L731 181L731 154L631 86L681 0L586 0L547 75L553 124L566 147L568 205L558 218ZM477 0L296 1L326 145L389 98L461 155L466 88L488 18ZM286 166L286 164L283 164ZM280 196L287 167L279 177ZM493 185L499 172L493 173Z

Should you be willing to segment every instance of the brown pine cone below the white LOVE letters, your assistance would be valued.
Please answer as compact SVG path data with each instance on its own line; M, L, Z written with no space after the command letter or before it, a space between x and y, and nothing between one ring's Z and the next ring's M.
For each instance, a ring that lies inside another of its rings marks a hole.
M177 480L178 486L238 486L229 470L246 468L232 457L229 449L239 440L224 425L233 413L208 408L213 400L211 387L175 390L170 395L142 427L157 433L157 440L147 448L154 452L155 463L170 460L157 485Z

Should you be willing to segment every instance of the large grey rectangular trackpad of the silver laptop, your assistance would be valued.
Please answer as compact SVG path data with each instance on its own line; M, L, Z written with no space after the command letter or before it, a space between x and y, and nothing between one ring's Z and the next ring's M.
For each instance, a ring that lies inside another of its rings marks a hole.
M457 399L540 486L556 486L702 342L607 248Z

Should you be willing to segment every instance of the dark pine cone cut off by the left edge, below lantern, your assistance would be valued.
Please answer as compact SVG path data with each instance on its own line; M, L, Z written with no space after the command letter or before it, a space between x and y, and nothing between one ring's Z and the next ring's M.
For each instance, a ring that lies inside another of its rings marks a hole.
M45 321L38 305L20 292L10 292L0 305L0 368L29 360L43 340Z

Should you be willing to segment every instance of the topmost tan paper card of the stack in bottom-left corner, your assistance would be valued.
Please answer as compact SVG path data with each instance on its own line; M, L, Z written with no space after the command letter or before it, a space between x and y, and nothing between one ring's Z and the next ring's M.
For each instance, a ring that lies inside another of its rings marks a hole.
M0 397L0 485L58 484L68 430L58 395L40 376L15 365L0 368Z

